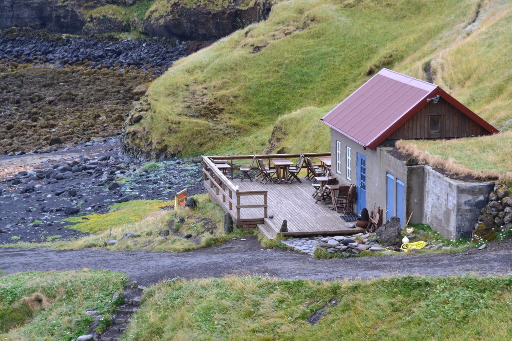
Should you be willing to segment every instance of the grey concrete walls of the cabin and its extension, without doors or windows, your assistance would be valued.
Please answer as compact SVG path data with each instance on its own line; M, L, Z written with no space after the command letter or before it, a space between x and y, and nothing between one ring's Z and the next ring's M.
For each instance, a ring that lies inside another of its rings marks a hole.
M336 172L336 141L342 143L341 169ZM347 145L352 148L352 177L347 179ZM390 155L389 148L364 149L345 135L331 129L332 170L342 184L357 184L357 152L367 158L367 202L371 211L375 203L384 210L383 221L390 219L387 210L387 178L391 173L406 183L405 212L411 223L429 224L446 238L471 237L480 210L487 204L494 183L467 183L450 179L429 166L406 166ZM403 224L407 221L402 222Z

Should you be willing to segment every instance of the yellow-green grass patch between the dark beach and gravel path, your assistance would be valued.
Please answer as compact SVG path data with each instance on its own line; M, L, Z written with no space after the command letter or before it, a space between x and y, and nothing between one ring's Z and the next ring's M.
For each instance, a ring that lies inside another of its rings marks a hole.
M159 207L170 203L159 200L134 200L116 204L112 212L84 216L90 219L73 226L80 231L94 230L94 234L50 245L58 249L104 247L111 250L182 252L215 246L229 239L231 235L223 231L224 211L207 197L196 198L199 198L199 203L195 210L185 207L174 210L174 206L160 210ZM181 223L180 218L185 218L185 222ZM162 236L164 230L169 230L168 236ZM135 238L123 238L126 233L132 233ZM193 235L193 238L185 239L187 234ZM117 240L115 244L109 242L114 239Z

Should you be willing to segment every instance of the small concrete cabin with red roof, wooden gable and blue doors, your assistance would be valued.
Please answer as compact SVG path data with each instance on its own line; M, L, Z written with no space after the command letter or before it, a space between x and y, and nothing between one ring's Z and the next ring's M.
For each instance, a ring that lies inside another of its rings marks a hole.
M428 166L408 166L390 150L397 140L482 136L499 132L495 127L439 86L388 69L322 121L331 127L334 175L357 185L357 212L376 203L386 208L385 220L398 216L404 224L411 217L447 238L471 233L494 184L462 183Z

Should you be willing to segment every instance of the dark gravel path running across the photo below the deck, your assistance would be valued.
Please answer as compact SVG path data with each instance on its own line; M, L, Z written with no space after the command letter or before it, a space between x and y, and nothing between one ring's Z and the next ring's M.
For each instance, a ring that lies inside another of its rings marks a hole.
M397 255L319 260L309 255L264 249L256 238L185 253L151 251L54 251L44 248L2 248L0 269L28 270L110 269L126 272L149 285L177 276L183 278L257 275L282 279L372 279L394 275L452 276L512 273L508 247L476 249L457 254Z

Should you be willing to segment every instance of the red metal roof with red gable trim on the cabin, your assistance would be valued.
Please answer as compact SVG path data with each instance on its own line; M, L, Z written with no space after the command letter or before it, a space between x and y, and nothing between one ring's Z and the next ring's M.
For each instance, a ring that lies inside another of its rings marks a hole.
M322 121L365 148L375 149L437 95L490 133L498 132L439 86L388 69L382 69Z

